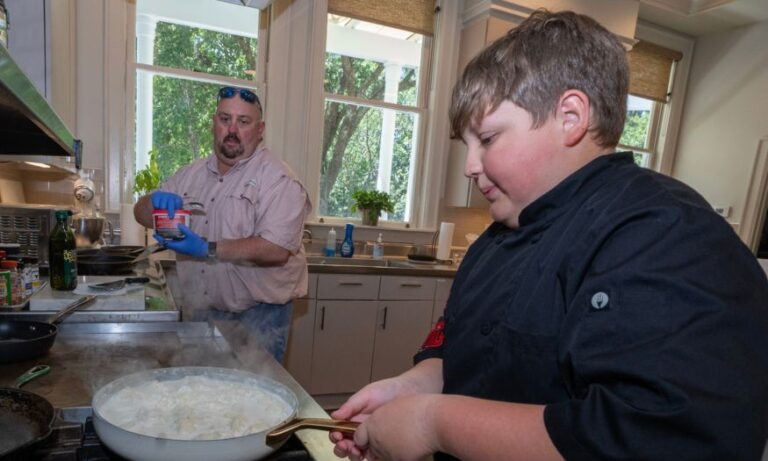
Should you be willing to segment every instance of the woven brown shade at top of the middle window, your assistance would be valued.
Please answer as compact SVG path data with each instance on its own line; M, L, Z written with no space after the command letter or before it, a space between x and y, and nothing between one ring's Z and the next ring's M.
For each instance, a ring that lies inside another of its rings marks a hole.
M328 0L328 12L432 36L435 0Z

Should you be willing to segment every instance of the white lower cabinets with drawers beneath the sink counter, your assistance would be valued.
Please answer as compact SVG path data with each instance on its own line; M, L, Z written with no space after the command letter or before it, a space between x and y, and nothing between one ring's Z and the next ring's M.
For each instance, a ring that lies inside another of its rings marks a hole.
M429 334L436 291L444 305L451 281L310 274L307 297L293 302L286 368L316 396L350 394L406 371Z

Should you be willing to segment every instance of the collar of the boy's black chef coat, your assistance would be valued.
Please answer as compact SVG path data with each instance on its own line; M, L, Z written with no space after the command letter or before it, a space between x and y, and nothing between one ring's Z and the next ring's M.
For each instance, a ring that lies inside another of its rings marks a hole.
M634 161L632 152L597 157L525 207L520 213L520 227L559 216L574 203L574 199L590 194L605 181L603 171Z

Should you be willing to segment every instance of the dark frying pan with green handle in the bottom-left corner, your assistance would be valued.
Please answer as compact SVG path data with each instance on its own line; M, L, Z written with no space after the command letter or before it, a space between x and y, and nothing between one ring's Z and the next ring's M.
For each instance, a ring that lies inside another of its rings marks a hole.
M47 365L38 365L16 379L14 388L0 388L0 458L18 454L51 433L53 405L37 394L19 389L49 371Z

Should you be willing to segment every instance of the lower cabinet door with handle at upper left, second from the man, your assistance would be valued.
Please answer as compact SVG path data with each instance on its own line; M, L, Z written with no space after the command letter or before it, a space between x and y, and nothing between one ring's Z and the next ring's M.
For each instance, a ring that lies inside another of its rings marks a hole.
M355 392L368 384L376 307L377 301L317 301L311 394Z

